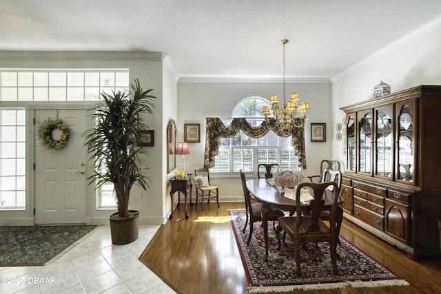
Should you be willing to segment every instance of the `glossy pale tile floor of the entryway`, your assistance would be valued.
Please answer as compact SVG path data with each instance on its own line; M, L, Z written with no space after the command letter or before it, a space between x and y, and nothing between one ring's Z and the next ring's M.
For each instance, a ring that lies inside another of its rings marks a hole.
M0 293L175 293L138 260L158 228L141 225L136 241L114 245L110 226L97 227L45 266L0 267Z

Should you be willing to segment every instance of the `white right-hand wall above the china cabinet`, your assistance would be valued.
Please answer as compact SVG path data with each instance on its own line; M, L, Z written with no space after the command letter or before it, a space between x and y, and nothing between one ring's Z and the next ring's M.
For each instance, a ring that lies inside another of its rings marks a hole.
M441 27L438 26L375 61L333 79L334 126L345 116L340 107L371 99L373 88L381 81L391 85L392 93L418 85L441 85L440 52ZM332 157L345 162L340 142L334 140L332 147Z

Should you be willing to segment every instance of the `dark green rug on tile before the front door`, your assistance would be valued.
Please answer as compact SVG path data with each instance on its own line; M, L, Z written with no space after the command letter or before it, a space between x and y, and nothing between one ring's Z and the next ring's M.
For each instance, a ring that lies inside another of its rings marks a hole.
M0 227L0 266L40 266L96 226Z

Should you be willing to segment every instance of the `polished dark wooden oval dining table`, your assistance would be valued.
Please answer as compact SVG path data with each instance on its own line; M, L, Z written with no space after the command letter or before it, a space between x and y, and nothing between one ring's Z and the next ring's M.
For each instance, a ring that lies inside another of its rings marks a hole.
M263 227L263 235L265 238L265 256L263 260L268 260L268 221L267 216L268 213L274 209L278 208L283 211L289 211L289 213L296 212L296 200L292 200L290 198L285 197L285 193L283 193L278 187L274 185L270 185L267 179L252 179L247 180L247 188L252 195L262 204L262 210L260 211L262 216L262 227ZM330 209L331 204L334 200L334 192L325 190L323 195L325 199L325 208ZM340 204L344 200L338 196L338 207L337 207L337 218L336 221L338 225L341 225L343 219L343 209L340 207ZM302 201L302 207L305 207L305 211L309 207L310 201Z

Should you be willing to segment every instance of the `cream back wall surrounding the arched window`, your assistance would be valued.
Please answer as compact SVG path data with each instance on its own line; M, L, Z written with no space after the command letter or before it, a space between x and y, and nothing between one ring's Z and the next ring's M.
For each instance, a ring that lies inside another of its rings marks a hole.
M329 83L287 84L287 93L297 92L300 102L309 102L305 127L305 148L307 169L305 174L319 173L320 160L331 158L331 85ZM250 96L260 96L269 100L271 94L283 95L282 83L178 83L178 142L184 140L184 124L201 124L201 143L189 144L191 154L185 156L187 173L203 167L205 149L205 118L231 117L237 103ZM310 123L327 124L327 142L310 142ZM178 156L181 169L181 156ZM220 187L219 201L243 201L240 177L213 178L214 185Z

